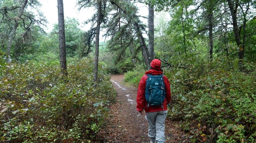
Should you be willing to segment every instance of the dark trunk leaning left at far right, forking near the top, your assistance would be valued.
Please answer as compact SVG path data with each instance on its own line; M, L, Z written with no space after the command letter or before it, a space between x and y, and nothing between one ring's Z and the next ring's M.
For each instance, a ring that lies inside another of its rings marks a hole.
M238 58L239 62L238 65L240 69L242 68L243 61L242 59L244 58L244 45L241 43L241 38L240 38L240 32L239 32L239 27L237 25L237 8L238 8L238 0L235 0L235 3L233 3L231 0L227 0L229 10L232 16L232 25L233 25L233 31L234 31L234 36L235 36L235 41L238 46Z

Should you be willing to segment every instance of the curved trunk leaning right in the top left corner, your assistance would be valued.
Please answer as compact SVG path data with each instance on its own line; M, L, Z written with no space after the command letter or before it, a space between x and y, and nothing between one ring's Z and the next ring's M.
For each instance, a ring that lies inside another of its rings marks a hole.
M19 15L15 18L14 20L14 26L12 28L12 31L10 32L10 35L9 35L9 40L8 40L8 45L7 45L7 49L6 49L6 62L7 63L10 63L11 62L11 59L10 59L10 51L11 51L11 46L12 46L12 41L13 41L13 38L15 37L15 33L16 33L16 30L17 30L17 27L19 25L19 22L18 20L21 18L22 14L23 14L23 11L26 7L28 3L28 0L25 0L23 5L21 6L21 9L20 9L20 12L19 12Z

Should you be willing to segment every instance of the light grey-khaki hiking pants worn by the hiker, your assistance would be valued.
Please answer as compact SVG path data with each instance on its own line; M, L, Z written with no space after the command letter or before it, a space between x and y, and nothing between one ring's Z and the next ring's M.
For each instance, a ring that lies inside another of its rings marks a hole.
M149 123L148 136L152 142L165 142L165 118L167 110L158 112L146 112L145 119Z

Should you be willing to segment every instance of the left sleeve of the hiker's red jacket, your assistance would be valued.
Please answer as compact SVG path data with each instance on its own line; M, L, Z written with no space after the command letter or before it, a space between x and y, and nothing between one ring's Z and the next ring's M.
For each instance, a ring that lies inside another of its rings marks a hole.
M137 92L137 98L136 98L136 102L137 102L137 111L142 111L143 107L144 107L144 102L145 102L145 88L146 88L146 75L144 75L139 83L139 87L138 87L138 92Z

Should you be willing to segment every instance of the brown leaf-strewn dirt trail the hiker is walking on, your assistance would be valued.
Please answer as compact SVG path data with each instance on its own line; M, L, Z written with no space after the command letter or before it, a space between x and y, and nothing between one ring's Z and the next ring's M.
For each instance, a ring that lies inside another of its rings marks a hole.
M117 101L110 105L110 114L106 126L98 132L101 142L105 143L149 143L148 122L145 114L136 110L137 89L124 84L124 75L111 76L111 82L117 90ZM178 122L166 119L166 143L179 143L185 134Z

